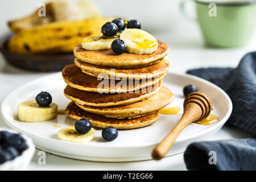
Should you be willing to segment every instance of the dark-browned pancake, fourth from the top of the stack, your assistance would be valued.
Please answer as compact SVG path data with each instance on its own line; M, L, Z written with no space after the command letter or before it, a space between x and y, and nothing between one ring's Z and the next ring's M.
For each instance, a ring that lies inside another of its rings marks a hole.
M159 82L162 84L162 81ZM148 86L142 90L137 90L133 93L98 93L98 92L85 92L72 88L71 86L66 86L64 89L65 96L77 104L96 106L96 107L106 107L106 106L117 106L117 105L127 105L134 102L142 101L151 97L152 95L158 93L160 85L156 84L153 86Z

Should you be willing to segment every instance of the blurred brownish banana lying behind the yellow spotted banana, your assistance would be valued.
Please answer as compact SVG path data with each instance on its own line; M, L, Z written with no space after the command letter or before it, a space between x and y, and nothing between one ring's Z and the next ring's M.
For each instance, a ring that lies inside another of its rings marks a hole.
M44 15L40 16L43 9ZM10 20L8 26L12 31L18 32L20 30L28 30L57 21L82 20L100 16L101 13L98 7L89 0L80 0L78 2L71 0L55 0L41 4L38 9L30 15Z

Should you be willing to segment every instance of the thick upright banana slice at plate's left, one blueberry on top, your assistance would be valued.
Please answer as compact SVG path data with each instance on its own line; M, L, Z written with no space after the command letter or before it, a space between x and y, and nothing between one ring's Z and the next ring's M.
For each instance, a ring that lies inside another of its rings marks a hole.
M36 101L26 101L19 104L17 117L24 122L48 121L56 117L57 107L53 102L48 107L40 107Z

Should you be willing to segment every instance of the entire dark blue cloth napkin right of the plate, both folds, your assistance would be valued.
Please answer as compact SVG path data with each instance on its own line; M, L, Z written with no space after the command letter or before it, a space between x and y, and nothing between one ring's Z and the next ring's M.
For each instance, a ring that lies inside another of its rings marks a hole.
M233 103L227 123L256 134L256 52L247 53L237 68L199 68L187 73L225 90ZM195 142L187 147L184 160L189 170L256 170L256 138Z

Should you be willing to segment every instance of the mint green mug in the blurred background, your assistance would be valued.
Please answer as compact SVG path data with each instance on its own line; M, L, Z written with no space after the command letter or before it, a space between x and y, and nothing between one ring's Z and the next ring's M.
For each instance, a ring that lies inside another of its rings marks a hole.
M188 0L181 2L183 13L186 2ZM209 46L245 46L253 37L256 28L255 0L193 2L196 4L196 19Z

